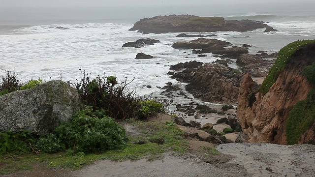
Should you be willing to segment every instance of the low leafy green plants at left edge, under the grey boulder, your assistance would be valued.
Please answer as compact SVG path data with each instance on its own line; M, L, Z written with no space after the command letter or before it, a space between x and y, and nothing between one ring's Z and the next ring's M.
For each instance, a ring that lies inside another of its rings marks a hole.
M28 131L22 133L2 132L0 133L0 154L29 152L33 141Z

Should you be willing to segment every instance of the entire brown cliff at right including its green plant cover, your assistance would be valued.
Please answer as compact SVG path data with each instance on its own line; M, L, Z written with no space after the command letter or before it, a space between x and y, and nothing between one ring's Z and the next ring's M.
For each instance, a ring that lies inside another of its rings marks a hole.
M315 144L315 40L290 43L279 52L259 89L241 80L237 117L250 142Z

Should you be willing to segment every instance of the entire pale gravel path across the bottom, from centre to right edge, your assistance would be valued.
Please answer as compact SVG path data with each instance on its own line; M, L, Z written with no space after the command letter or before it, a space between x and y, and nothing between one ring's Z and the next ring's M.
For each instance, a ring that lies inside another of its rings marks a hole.
M315 146L256 143L224 144L217 149L232 156L219 155L218 163L206 163L191 153L181 157L167 153L152 162L105 160L73 172L71 177L314 177L315 174Z

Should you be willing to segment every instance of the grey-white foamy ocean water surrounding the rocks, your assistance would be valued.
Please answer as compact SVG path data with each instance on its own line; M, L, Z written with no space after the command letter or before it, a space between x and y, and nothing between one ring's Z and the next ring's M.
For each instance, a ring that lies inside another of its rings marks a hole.
M292 7L293 8L293 7ZM247 32L211 32L190 34L216 34L216 38L235 46L252 45L250 53L278 52L290 42L315 39L315 12L308 8L290 11L273 8L237 11L207 10L207 8L171 7L146 8L80 8L79 10L20 9L0 11L0 76L5 70L15 71L23 82L41 78L44 81L62 78L63 81L81 79L81 72L91 73L91 78L116 76L118 81L127 78L134 81L130 88L139 95L159 94L165 83L179 83L166 73L170 65L197 60L213 62L212 54L198 58L191 50L176 50L171 45L176 41L196 38L175 37L179 33L141 34L128 31L140 18L154 15L192 14L199 16L222 16L226 20L252 19L266 22L278 29L263 32L257 29ZM90 13L91 12L91 13ZM137 13L135 13L137 12ZM173 13L172 13L173 12ZM241 12L241 13L240 13ZM118 13L119 15L115 15ZM67 29L54 29L63 27ZM249 36L249 37L246 37ZM142 48L122 48L122 45L139 38L158 39L161 43ZM134 59L137 53L152 55L154 59ZM186 58L188 57L188 58ZM231 67L237 68L232 64ZM148 89L146 86L152 86Z

